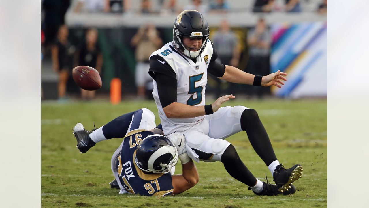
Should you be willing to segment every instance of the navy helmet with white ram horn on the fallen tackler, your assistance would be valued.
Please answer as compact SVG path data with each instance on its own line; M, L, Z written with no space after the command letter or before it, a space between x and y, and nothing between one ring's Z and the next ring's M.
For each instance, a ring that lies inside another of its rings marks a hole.
M142 171L168 173L177 161L175 145L163 135L149 135L137 146L135 163Z

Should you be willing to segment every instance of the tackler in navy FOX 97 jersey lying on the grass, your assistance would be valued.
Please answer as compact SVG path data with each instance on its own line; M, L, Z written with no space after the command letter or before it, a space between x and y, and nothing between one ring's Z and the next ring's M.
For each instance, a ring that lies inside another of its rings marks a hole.
M142 108L92 131L85 130L78 123L73 134L81 153L87 152L97 142L124 137L111 158L111 170L120 194L180 194L199 181L196 166L186 153L183 135L165 137L161 125L155 126L155 115ZM183 173L173 175L178 158L182 162Z

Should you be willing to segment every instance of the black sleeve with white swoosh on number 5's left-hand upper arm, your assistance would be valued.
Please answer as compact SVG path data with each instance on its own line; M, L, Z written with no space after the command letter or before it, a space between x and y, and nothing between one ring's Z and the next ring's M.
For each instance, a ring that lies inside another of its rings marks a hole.
M177 101L177 76L172 67L159 55L150 57L150 76L156 81L162 108Z

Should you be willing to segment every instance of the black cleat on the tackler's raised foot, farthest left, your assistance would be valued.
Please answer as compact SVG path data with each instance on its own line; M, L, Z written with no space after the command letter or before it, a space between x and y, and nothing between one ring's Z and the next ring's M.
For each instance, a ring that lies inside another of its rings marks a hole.
M96 143L92 141L90 138L90 134L95 131L97 128L95 128L92 131L87 131L85 128L83 128L83 125L81 123L78 123L73 128L73 134L74 137L77 139L77 149L81 153L87 152L91 147L93 147Z

